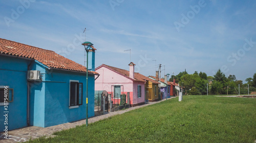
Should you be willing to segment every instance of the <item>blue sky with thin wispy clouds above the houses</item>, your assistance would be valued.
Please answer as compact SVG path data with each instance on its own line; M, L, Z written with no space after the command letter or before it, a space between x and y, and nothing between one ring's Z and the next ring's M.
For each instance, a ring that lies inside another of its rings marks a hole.
M53 50L84 65L83 30L96 67L141 74L221 69L245 80L256 73L256 1L1 1L0 37ZM178 25L178 26L177 26ZM153 61L153 60L156 60Z

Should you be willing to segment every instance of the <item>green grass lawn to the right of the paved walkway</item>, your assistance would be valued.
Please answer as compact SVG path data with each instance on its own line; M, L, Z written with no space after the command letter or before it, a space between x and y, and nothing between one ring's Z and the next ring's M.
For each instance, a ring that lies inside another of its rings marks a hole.
M254 142L256 99L183 96L29 142Z

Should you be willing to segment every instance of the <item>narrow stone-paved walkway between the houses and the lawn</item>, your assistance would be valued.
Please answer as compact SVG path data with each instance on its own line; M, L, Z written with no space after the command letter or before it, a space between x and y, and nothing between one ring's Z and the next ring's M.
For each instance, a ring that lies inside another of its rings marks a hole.
M172 99L175 97L171 97L168 98ZM144 105L140 105L140 106L136 106L136 107L131 107L131 108L127 108L125 110L118 110L115 112L110 112L110 113L106 113L104 115L101 116L96 116L96 117L92 117L88 119L88 124L90 123L94 123L106 118L109 118L111 116L115 116L115 115L119 115L122 114L124 112L127 111L131 111L137 108L141 108L144 106L148 106L148 105L152 105L152 104L156 104L159 102L165 101L164 99L161 101L156 101L156 102L150 102ZM76 121L76 122L72 122L72 123L65 123L65 124L60 124L60 125L56 125L56 126L51 126L51 127L47 127L47 128L42 128L42 127L36 127L36 126L29 126L29 127L25 127L25 128L20 128L20 129L16 129L16 130L12 130L8 132L8 139L4 138L4 134L0 133L0 142L24 142L24 141L28 141L30 138L34 139L34 138L38 138L40 136L54 136L52 135L54 132L57 131L61 131L61 130L67 130L70 128L75 128L76 126L79 125L83 125L86 124L86 120L80 120L80 121Z

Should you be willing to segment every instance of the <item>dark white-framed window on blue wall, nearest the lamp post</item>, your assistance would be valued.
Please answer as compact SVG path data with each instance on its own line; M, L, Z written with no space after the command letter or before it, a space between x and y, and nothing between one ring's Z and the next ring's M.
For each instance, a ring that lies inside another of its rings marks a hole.
M82 83L70 81L70 107L82 105Z

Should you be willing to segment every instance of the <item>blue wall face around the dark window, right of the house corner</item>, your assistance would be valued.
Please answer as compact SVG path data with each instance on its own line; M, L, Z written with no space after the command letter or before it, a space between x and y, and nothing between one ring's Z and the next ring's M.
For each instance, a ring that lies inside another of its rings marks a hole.
M47 71L45 82L45 127L86 119L86 74ZM70 80L83 83L82 105L69 108ZM94 116L94 75L88 74L88 117Z

